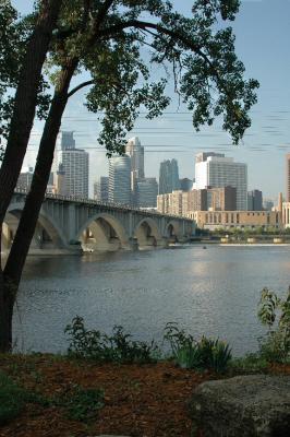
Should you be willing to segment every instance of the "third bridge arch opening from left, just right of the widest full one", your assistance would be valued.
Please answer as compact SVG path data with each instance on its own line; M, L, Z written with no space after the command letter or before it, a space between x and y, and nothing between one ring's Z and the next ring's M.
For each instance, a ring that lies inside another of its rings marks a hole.
M138 247L156 247L160 245L162 235L154 218L142 218L134 228L133 237L137 239Z

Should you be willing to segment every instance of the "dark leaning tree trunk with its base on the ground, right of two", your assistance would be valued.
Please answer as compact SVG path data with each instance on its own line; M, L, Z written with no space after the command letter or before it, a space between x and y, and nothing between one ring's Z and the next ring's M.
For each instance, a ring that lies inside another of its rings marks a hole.
M5 317L3 318L3 323L0 323L0 339L3 338L3 344L1 344L0 340L0 351L9 350L12 345L12 316L15 295L19 288L25 259L34 236L39 211L45 198L53 161L57 135L59 133L62 114L68 103L68 90L76 66L77 60L74 59L70 62L68 68L62 71L60 85L51 102L38 150L31 190L27 194L19 227L4 268L3 290L5 292L3 294L3 311L0 309L0 317ZM5 331L7 329L9 329L9 332Z

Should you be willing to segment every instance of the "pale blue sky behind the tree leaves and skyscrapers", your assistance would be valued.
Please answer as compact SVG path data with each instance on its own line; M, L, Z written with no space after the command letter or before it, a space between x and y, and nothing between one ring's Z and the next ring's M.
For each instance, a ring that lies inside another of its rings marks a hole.
M27 13L33 0L12 0L12 3L21 13ZM179 12L189 15L193 0L173 0L173 3ZM177 158L180 177L192 179L195 154L216 151L246 163L249 190L261 189L264 198L276 200L279 191L286 191L286 153L290 152L290 0L242 0L231 25L245 78L255 78L261 84L258 103L251 111L252 127L241 144L232 145L219 122L195 132L191 114L179 108L177 96L161 117L149 121L141 115L128 138L138 137L144 145L147 177L158 178L160 162ZM76 146L89 153L92 194L94 180L108 174L108 160L97 143L99 122L96 115L86 110L84 102L84 93L70 101L61 129L73 130ZM43 125L36 121L25 165L34 166L41 129Z

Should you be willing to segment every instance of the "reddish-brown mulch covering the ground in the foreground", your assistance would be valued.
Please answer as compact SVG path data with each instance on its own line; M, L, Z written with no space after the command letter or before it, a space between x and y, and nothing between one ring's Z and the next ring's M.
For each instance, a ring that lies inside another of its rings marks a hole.
M28 403L16 420L0 428L1 437L190 437L191 393L201 382L217 378L172 363L93 365L45 355L0 356L0 369L47 398L70 392L75 385L105 392L105 406L89 423L65 418L59 406ZM274 371L290 374L290 366L276 366Z

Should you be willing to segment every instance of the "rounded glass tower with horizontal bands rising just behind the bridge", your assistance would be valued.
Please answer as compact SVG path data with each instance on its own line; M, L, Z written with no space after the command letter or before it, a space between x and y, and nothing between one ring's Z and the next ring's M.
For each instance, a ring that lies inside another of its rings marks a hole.
M131 158L128 155L109 158L109 201L131 204Z

